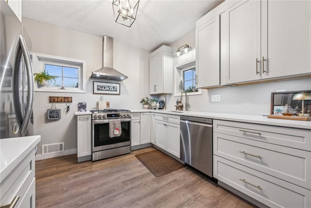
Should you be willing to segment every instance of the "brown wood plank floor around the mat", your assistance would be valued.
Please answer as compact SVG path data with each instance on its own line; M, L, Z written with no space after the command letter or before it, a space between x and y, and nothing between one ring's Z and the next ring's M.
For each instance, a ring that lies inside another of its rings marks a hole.
M254 208L188 167L155 177L135 157L96 162L77 155L35 162L36 208Z

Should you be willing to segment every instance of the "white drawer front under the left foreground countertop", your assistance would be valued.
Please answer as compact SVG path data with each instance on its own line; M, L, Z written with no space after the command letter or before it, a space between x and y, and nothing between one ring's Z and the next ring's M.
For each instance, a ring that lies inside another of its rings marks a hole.
M17 207L35 177L35 150L31 151L1 183L1 205L20 198Z

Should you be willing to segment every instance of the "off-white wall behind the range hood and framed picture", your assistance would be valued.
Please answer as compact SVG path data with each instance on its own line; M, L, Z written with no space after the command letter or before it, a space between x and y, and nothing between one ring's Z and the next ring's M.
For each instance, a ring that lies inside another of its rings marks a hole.
M41 135L38 154L41 154L42 144L55 142L65 142L65 150L76 149L74 113L78 103L86 102L88 111L95 108L101 95L93 95L93 81L105 81L90 78L92 71L102 67L102 37L27 18L23 19L23 24L32 39L34 53L86 60L86 94L35 92L34 134ZM103 95L111 108L142 109L139 101L149 95L149 54L149 51L114 41L114 68L129 78L121 82L121 95ZM61 109L60 120L46 119L46 112L52 106L49 96L72 96L69 113L66 113L66 104L56 104Z

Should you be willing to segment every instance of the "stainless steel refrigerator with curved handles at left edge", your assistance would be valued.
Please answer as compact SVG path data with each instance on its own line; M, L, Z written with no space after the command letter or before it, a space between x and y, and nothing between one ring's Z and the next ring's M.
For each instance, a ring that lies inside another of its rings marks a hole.
M0 0L0 19L0 138L33 135L31 41L5 0Z

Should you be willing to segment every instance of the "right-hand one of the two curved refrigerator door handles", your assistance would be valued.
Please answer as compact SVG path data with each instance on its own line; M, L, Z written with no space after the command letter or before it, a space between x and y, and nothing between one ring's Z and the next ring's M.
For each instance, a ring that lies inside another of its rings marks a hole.
M19 36L20 46L24 55L25 65L26 65L26 73L27 73L27 83L28 83L28 96L27 96L27 105L26 105L26 113L23 119L23 123L21 126L21 134L24 136L27 133L28 125L30 122L31 114L33 113L33 104L34 104L34 71L33 66L31 65L31 59L29 55L29 51L26 46L26 42L22 36Z

